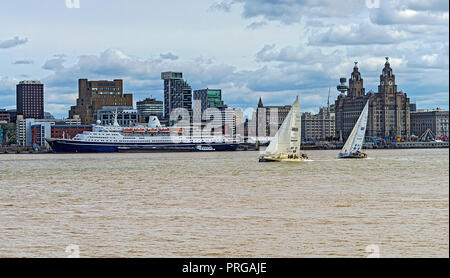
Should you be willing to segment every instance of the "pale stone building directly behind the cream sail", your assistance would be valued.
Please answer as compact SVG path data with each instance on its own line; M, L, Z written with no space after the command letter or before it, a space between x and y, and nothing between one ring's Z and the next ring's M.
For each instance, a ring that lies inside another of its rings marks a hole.
M290 110L291 105L264 106L261 98L259 98L255 115L258 137L275 136Z

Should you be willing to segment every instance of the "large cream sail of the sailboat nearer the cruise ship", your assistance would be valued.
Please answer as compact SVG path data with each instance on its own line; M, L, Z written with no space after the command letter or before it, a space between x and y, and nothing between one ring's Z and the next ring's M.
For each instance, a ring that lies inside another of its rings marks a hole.
M275 137L265 150L266 155L299 154L301 143L301 117L298 97L281 124Z

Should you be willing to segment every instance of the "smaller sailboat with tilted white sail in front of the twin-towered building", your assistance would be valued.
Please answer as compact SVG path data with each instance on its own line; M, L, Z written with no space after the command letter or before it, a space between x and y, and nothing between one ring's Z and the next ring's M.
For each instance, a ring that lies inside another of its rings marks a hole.
M364 136L366 135L367 115L369 114L369 101L364 106L358 121L353 127L350 136L339 153L338 158L366 158L367 154L361 152Z

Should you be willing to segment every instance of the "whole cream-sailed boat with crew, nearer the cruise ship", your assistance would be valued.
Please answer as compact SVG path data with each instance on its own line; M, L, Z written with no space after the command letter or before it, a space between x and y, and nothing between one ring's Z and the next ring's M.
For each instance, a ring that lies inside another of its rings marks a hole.
M259 157L259 162L298 162L306 160L308 156L300 153L300 144L301 117L297 96L280 129Z

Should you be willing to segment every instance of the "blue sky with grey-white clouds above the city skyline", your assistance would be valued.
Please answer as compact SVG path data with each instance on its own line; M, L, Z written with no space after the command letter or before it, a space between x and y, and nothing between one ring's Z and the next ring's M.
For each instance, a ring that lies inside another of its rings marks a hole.
M79 78L123 79L134 102L162 100L161 72L181 71L244 111L299 95L317 112L355 61L377 91L385 57L419 109L449 108L447 0L15 0L0 25L0 108L15 108L21 80L44 83L59 118Z

